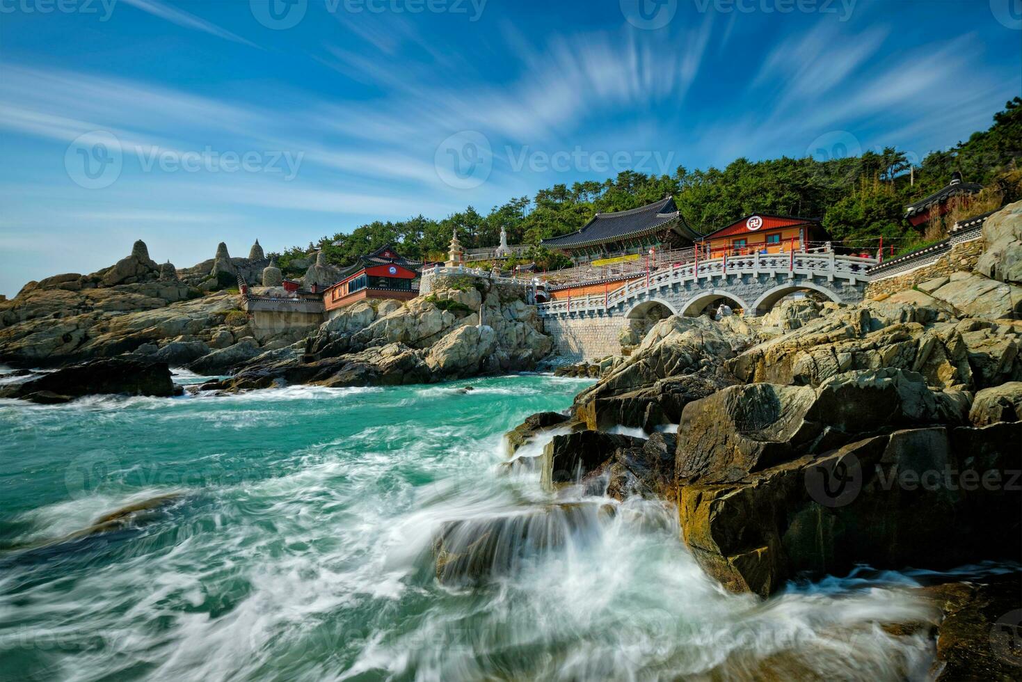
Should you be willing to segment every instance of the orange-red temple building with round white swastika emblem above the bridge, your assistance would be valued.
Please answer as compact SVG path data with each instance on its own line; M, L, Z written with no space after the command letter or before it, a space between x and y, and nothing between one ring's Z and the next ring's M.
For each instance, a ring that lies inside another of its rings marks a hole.
M700 258L780 254L823 246L830 235L819 220L794 216L745 216L699 241Z

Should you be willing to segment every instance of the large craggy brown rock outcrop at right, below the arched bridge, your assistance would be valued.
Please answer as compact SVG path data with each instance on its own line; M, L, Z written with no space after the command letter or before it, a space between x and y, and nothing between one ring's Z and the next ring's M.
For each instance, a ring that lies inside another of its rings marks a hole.
M509 442L593 429L553 438L544 480L676 501L682 540L738 592L860 563L1017 561L1022 204L991 220L981 272L853 307L790 302L748 324L663 320L570 418ZM677 440L595 430L665 423Z

